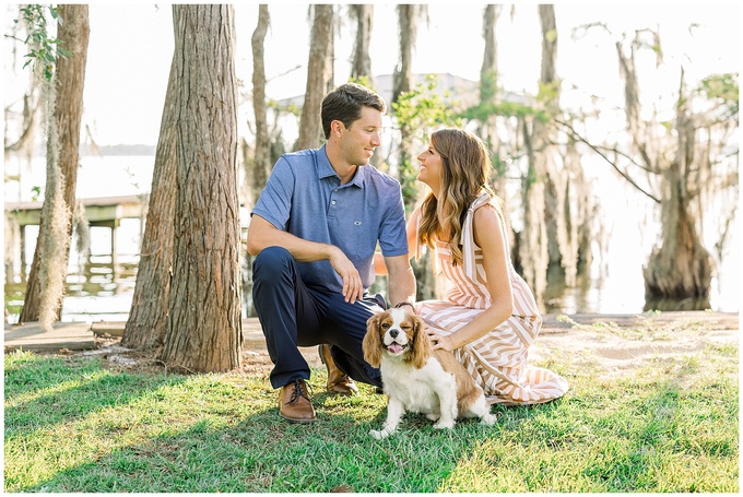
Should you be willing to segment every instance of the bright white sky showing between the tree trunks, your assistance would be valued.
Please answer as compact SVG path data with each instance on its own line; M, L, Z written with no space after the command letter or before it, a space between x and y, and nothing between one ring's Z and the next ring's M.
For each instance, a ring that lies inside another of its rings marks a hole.
M429 22L418 28L413 72L449 72L477 80L482 63L481 2L428 4ZM304 93L308 57L308 3L270 2L271 27L266 39L267 93L281 99ZM345 17L344 8L341 9ZM576 43L571 29L580 24L605 22L618 36L635 28L660 26L668 60L685 63L687 76L697 78L720 71L740 70L741 9L733 2L719 4L671 5L669 2L641 4L557 3L555 8L558 39L558 74L569 75L564 88L578 86L578 95L599 94L621 97L616 55L610 35L599 35ZM4 11L7 16L7 11ZM250 35L258 16L256 2L235 7L236 69L249 97L251 81ZM9 19L3 19L8 26ZM83 125L99 145L155 144L173 56L172 8L168 4L139 2L117 4L92 2L91 38L85 78ZM699 24L695 37L688 25ZM370 57L375 74L389 74L398 60L397 16L394 5L376 3ZM345 21L337 37L335 83L349 75L353 25ZM535 3L517 3L512 15L500 15L498 63L502 84L515 92L535 93L540 70L541 33ZM9 40L3 56L8 59ZM5 61L7 62L7 61ZM673 67L673 66L672 66ZM27 71L27 70L26 70ZM5 104L17 99L26 78L11 76L5 68ZM677 76L670 73L671 86ZM665 91L668 81L644 82L652 92L653 83ZM567 96L566 96L567 97ZM83 133L85 138L85 133Z

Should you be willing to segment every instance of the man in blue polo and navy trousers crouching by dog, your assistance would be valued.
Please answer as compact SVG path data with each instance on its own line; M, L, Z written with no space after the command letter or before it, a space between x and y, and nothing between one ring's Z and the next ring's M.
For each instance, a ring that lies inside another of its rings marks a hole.
M390 303L415 299L400 184L368 165L381 144L385 110L379 95L358 84L326 95L326 144L283 155L251 213L253 303L274 364L279 413L290 422L316 418L309 366L297 346L320 344L330 391L357 392L353 380L381 387L362 351L366 320L385 305L367 294L377 244Z

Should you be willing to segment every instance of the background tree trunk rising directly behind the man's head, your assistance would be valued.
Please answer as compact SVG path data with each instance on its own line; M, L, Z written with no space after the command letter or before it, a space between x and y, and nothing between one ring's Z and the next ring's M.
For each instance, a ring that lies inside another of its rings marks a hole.
M317 149L322 138L320 106L332 80L333 5L316 4L309 42L307 87L299 119L297 149Z

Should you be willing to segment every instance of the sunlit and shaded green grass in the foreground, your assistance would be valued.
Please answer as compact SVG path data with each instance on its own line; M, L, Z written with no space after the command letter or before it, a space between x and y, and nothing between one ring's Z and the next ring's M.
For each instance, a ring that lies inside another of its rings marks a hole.
M99 358L5 355L5 492L738 493L738 348L617 378L568 358L563 399L435 430L386 398L325 393L314 425L276 413L263 377L144 375ZM589 369L590 368L590 369Z

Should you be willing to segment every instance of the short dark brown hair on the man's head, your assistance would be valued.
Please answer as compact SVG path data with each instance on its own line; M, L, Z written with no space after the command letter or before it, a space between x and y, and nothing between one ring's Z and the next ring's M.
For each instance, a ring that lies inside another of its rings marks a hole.
M345 83L328 93L322 98L320 118L326 140L330 138L330 123L341 121L350 128L353 121L362 117L362 107L371 107L385 113L387 107L379 95L356 83Z

